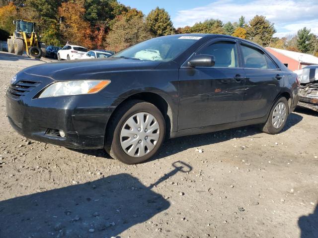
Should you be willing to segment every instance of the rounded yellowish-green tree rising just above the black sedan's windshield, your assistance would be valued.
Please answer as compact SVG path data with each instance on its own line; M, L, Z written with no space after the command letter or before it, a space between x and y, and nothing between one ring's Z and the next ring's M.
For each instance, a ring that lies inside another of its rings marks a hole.
M174 33L174 28L170 15L164 8L158 6L146 17L147 26L151 34L155 37L166 36Z

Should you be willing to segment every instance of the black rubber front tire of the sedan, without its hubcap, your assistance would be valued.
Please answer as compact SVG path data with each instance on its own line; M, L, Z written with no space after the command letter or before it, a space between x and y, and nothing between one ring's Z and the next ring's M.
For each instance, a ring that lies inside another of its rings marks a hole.
M120 132L127 119L136 113L146 112L152 114L159 123L159 139L154 149L142 157L132 157L124 152L120 144ZM125 164L139 164L153 157L159 150L165 138L165 121L159 109L148 102L131 100L122 105L114 117L109 121L106 128L104 148L114 159Z

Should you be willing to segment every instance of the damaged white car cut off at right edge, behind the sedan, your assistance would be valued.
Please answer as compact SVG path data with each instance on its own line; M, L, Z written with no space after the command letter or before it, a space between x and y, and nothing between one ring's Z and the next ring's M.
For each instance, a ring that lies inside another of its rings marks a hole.
M318 112L318 64L294 72L300 80L298 106Z

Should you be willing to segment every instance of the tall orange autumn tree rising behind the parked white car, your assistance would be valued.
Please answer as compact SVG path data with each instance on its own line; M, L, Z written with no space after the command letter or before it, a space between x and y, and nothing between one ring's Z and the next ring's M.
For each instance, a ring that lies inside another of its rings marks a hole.
M93 46L92 31L88 21L84 20L85 8L80 2L63 2L59 7L62 18L61 35L66 41L87 48Z

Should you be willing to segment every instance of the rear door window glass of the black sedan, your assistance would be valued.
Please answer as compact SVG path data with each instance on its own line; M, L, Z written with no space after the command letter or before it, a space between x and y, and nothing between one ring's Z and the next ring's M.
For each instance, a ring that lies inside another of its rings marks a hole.
M255 48L241 45L245 68L268 68L266 55Z

